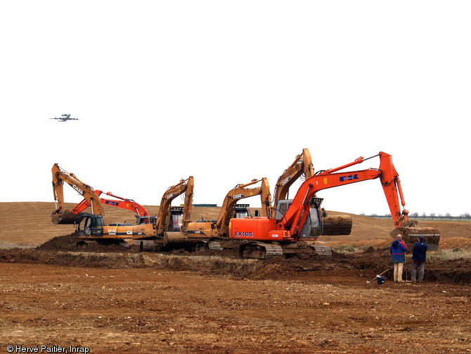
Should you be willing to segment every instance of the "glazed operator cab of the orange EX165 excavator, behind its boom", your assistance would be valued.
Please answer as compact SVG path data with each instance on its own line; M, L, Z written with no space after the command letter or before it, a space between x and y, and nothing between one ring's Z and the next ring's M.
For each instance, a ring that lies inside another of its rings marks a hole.
M322 218L321 218L321 203L323 198L312 198L311 208L309 214L306 217L306 222L302 226L301 232L299 232L299 241L315 241L322 233ZM276 209L276 220L280 220L286 213L286 210L290 208L292 199L284 199L278 201L278 208Z

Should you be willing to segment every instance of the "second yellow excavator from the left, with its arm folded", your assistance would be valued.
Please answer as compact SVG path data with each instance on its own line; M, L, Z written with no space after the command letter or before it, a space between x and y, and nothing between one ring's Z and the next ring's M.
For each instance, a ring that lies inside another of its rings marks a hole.
M133 239L142 251L161 249L168 244L165 239L166 232L185 232L191 222L191 208L193 203L193 176L181 179L179 183L169 187L160 201L159 213L155 223L136 225L133 228ZM177 196L185 194L183 206L172 207L172 201Z

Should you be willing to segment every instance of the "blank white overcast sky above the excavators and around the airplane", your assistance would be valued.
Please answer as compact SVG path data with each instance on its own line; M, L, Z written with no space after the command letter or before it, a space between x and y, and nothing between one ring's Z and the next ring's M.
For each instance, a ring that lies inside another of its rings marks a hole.
M193 202L220 206L309 148L315 170L386 151L411 213L471 213L470 18L470 1L2 1L0 201L53 201L58 163L143 205L193 175ZM389 213L378 180L318 196Z

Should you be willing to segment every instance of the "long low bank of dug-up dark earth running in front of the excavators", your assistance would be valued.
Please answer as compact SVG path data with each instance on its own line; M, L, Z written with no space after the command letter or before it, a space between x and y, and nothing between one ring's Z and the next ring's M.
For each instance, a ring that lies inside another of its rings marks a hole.
M221 255L182 255L163 253L95 253L41 251L12 248L0 250L0 262L39 263L72 267L142 268L154 267L193 271L206 275L228 275L242 279L296 279L297 277L354 276L374 277L387 268L392 280L392 263L387 249L367 249L360 254L321 256L304 254L294 258L244 260ZM410 260L406 263L410 272ZM408 273L410 279L410 273ZM427 282L471 284L471 260L430 258L425 266Z

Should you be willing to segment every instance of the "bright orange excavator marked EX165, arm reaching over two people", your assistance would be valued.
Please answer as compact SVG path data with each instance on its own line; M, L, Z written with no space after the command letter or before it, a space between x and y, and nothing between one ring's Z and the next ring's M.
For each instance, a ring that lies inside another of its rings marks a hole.
M408 211L402 194L399 174L392 163L392 156L380 152L380 167L367 170L338 172L347 167L358 165L369 158L357 158L352 163L330 170L317 172L307 178L299 187L295 197L285 208L279 208L276 217L254 217L252 219L231 219L229 237L245 241L240 244L239 254L243 258L271 258L283 253L295 253L297 241L315 241L322 230L319 207L322 198L316 193L323 189L340 187L369 179L380 179L394 225L399 228L406 244L412 244L418 236L424 236L429 249L437 249L440 234L431 227L416 227L408 220ZM376 156L373 156L376 157ZM373 158L372 157L372 158ZM307 224L309 216L309 225ZM304 230L306 230L304 232ZM396 230L391 233L397 234Z

